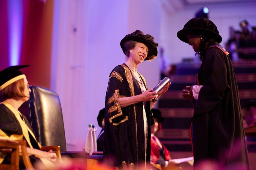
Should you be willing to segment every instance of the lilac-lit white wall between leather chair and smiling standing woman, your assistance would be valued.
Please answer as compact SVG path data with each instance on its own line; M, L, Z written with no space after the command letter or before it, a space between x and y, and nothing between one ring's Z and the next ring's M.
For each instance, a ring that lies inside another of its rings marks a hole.
M60 96L67 149L81 150L88 124L97 125L104 107L111 70L125 63L120 40L140 29L159 41L160 2L56 0L54 16L57 45L53 45L51 89ZM145 62L138 70L149 87L158 83L157 61Z

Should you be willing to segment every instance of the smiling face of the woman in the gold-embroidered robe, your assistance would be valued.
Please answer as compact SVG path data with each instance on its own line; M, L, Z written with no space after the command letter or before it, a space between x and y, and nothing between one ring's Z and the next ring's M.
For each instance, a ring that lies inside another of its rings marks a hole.
M145 60L147 57L148 53L148 48L145 44L143 43L136 43L136 46L130 50L130 55L131 59L135 64L140 64Z

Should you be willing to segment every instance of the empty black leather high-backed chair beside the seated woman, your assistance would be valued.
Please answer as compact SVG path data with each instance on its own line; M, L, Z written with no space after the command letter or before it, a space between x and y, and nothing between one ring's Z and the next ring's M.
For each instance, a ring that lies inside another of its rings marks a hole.
M60 146L61 156L89 158L84 151L66 151L66 137L58 94L32 85L29 98L29 118L32 129L42 146Z

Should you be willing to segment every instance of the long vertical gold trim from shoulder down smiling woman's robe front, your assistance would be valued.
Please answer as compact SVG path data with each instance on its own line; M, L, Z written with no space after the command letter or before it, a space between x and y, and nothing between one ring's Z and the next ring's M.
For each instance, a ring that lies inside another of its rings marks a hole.
M125 69L125 77L128 81L130 91L131 91L131 96L134 96L134 86L133 86L133 80L132 80L132 74L131 70L124 64L121 65ZM136 151L137 151L137 162L139 162L138 158L138 132L137 132L137 119L136 119L136 108L135 104L133 104L133 111L134 111L134 117L135 117L135 129L136 129Z

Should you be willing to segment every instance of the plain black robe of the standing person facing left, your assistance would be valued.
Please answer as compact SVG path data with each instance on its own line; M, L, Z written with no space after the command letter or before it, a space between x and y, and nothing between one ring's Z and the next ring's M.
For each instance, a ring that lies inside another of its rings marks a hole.
M192 120L194 161L248 165L236 76L230 58L210 48L198 72L200 89Z

